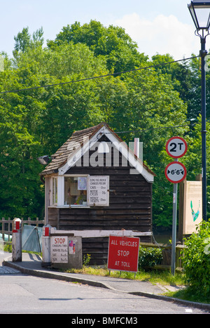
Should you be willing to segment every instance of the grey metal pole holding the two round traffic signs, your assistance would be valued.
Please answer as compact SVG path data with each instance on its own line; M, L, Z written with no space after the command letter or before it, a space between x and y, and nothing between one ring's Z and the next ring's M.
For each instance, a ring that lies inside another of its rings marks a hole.
M175 159L178 162L178 159ZM176 267L176 216L177 216L177 189L178 183L174 183L174 193L173 193L173 225L172 225L172 275L175 275Z

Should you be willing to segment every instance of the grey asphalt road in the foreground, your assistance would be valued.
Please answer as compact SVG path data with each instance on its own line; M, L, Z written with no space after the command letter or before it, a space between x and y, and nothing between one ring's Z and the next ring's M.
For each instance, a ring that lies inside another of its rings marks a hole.
M3 255L0 254L0 263L2 259ZM101 314L105 317L104 320L107 315L123 315L123 317L130 315L136 318L133 320L139 320L138 315L143 313L204 314L208 312L120 291L24 275L12 268L0 267L0 313L65 313L74 315L69 317L71 322L75 315L79 318L80 315L92 314L94 317L94 314ZM102 319L99 319L98 323L106 324L100 320ZM92 322L92 325L96 323Z

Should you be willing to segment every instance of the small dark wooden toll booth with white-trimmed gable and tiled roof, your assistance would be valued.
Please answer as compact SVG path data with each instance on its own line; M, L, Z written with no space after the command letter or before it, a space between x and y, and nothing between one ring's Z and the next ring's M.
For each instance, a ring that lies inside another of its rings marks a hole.
M106 123L75 131L41 172L45 224L82 236L90 264L107 263L109 235L151 242L155 174Z

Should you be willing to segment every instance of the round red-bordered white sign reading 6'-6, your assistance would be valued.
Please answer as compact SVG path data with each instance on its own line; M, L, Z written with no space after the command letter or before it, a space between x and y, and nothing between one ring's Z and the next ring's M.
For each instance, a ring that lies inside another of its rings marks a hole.
M187 170L180 162L172 162L165 168L165 176L172 183L180 183L186 178Z

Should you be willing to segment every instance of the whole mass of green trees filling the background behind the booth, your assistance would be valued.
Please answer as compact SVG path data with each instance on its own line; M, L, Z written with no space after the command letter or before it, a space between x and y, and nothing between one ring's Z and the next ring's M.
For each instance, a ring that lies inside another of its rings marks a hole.
M54 153L73 131L107 122L127 143L144 143L144 161L157 175L153 224L171 225L172 183L164 174L170 137L188 140L190 178L201 173L199 59L143 69L173 58L149 60L125 29L95 20L63 27L47 46L42 28L31 36L25 27L14 39L13 58L2 54L0 72L0 92L14 91L0 93L0 215L42 218L43 166L36 158ZM119 74L88 79L112 73ZM209 83L207 74L208 95Z

